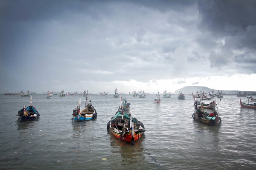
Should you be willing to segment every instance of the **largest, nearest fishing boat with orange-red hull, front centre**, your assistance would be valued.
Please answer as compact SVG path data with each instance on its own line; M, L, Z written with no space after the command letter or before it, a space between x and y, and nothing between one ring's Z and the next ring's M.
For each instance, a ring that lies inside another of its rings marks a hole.
M110 130L116 138L131 142L134 145L135 141L140 141L142 133L145 132L145 127L142 122L133 118L131 113L126 113L123 110L121 97L119 109L108 122L107 130Z

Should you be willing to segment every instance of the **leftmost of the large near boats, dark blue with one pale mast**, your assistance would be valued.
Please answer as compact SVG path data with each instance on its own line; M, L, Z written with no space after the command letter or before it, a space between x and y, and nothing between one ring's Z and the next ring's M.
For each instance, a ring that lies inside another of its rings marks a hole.
M30 96L30 104L26 108L24 106L20 111L18 111L17 116L19 116L20 120L34 120L40 116L38 111L35 109L34 106L32 106L32 96Z

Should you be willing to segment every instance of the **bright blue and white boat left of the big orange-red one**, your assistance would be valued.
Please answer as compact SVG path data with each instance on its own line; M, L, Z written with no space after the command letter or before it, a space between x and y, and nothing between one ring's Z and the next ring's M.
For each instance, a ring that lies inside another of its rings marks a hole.
M87 91L88 94L88 91ZM73 117L72 121L87 121L91 119L97 118L97 112L96 109L93 107L91 103L91 99L89 103L87 103L88 97L86 96L85 101L85 107L83 110L80 111L80 105L81 105L81 99L78 99L78 105L76 108L73 109Z

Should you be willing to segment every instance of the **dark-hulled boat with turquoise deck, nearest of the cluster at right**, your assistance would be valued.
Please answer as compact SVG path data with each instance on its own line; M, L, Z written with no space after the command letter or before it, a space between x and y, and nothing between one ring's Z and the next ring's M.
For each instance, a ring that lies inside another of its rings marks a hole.
M218 112L208 113L203 108L195 109L192 114L194 121L202 122L208 125L219 125L221 123L221 117L218 116Z

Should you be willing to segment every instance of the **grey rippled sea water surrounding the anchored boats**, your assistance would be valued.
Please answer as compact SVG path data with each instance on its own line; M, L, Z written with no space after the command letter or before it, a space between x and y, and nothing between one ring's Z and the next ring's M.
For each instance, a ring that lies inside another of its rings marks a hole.
M85 97L32 96L40 113L22 122L17 113L30 97L0 94L1 170L255 170L256 110L241 108L239 97L216 98L221 125L193 120L194 99L185 95L154 103L126 95L130 113L145 126L134 145L114 137L107 123L119 108L120 98L91 95L95 120L72 122L73 109ZM125 97L125 95L123 95ZM243 101L244 97L241 98ZM208 101L209 102L209 101Z

